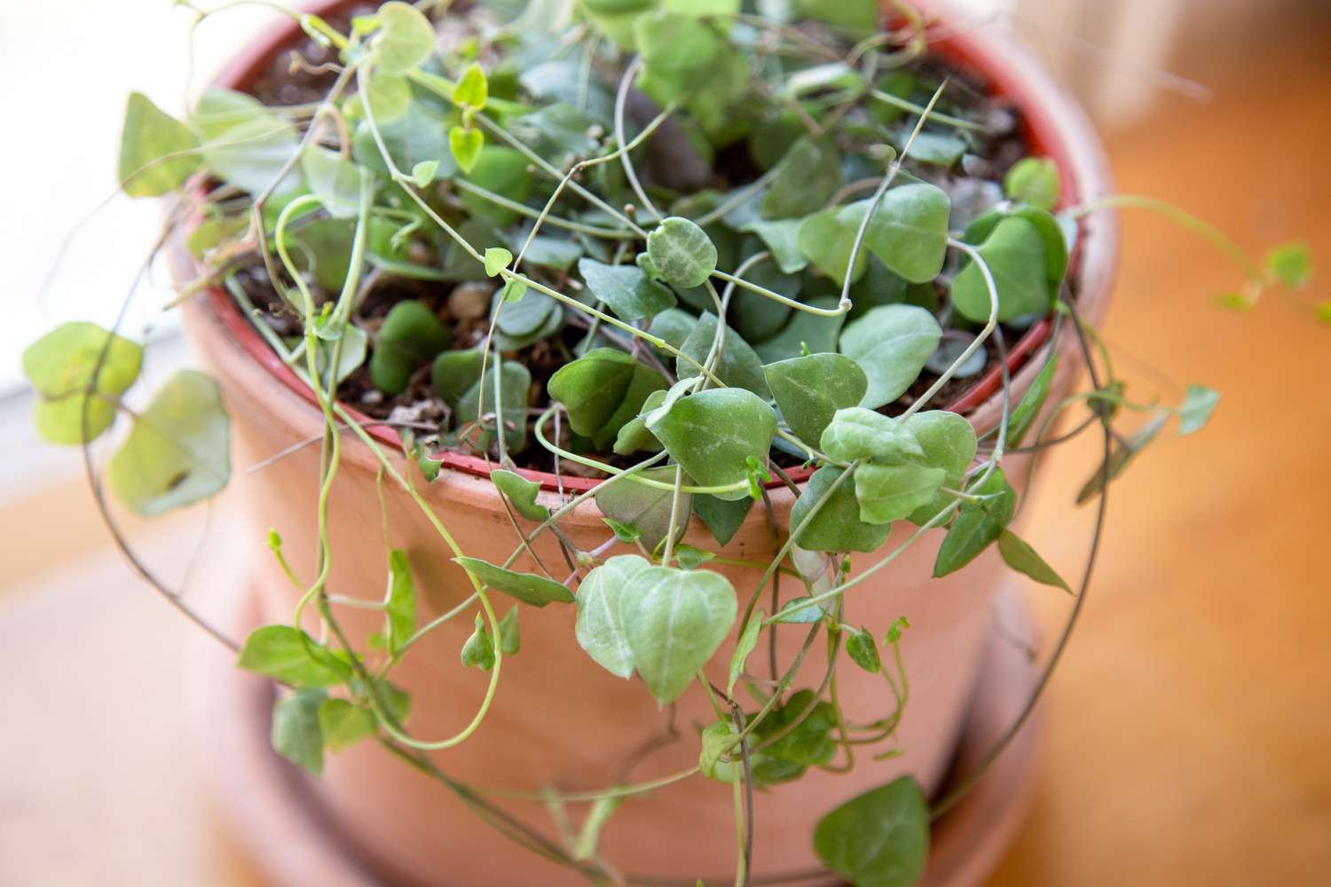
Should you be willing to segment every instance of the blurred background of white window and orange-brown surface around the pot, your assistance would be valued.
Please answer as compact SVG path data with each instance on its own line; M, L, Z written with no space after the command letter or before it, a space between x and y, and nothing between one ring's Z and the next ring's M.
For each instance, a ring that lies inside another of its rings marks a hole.
M154 237L158 207L93 210L114 186L126 93L185 104L190 16L169 5L0 4L3 887L260 883L194 775L173 669L190 629L112 549L77 455L37 442L19 372L49 326L109 322ZM956 5L968 27L1022 35L1086 104L1122 191L1254 253L1302 238L1315 295L1331 295L1331 3ZM268 16L200 29L196 89ZM993 883L1326 883L1331 327L1278 294L1247 314L1214 307L1238 277L1218 254L1159 218L1123 225L1105 335L1130 394L1202 382L1223 399L1205 435L1159 443L1111 488L1094 598L1044 703L1032 817ZM152 372L188 360L169 324L154 335ZM1071 505L1095 464L1089 438L1049 459L1025 533L1063 572L1090 529ZM184 572L208 521L130 529ZM1037 646L1067 606L1041 590Z

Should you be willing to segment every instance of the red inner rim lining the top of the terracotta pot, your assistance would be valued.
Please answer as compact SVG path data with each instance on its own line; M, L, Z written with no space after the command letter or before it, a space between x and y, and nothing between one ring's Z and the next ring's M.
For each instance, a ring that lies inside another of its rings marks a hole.
M355 0L319 0L309 7L314 15L330 15L339 8L353 5ZM244 89L253 82L270 63L273 56L281 49L293 44L301 36L299 24L294 20L284 21L272 31L254 40L222 70L213 85L225 89ZM982 37L954 32L929 43L930 52L953 61L961 66L970 66L981 72L989 81L990 94L1006 98L1021 110L1024 121L1024 134L1030 146L1032 154L1045 156L1054 161L1058 168L1061 193L1065 203L1075 203L1082 195L1082 182L1078 181L1071 161L1071 146L1063 137L1050 109L1034 101L1032 84L1028 82L1014 68L1005 66L1000 60L984 52ZM1069 269L1075 273L1078 267L1081 246L1078 243L1069 261ZM241 314L240 307L230 294L222 287L210 287L206 291L208 302L217 314L222 326L236 338L237 343L254 359L272 372L278 382L298 394L311 406L317 406L314 392L301 382L299 376L286 366L281 358L260 336L250 322ZM1014 375L1030 356L1049 338L1051 323L1045 318L1026 330L1025 334L1008 351L1008 372ZM1002 367L994 367L986 372L974 386L968 388L960 398L945 408L952 412L964 414L982 404L1002 384ZM343 404L346 406L346 404ZM347 412L357 422L366 424L366 431L379 443L401 449L402 443L391 428L373 424L374 420L365 414L346 407ZM478 477L488 477L491 464L480 456L470 456L449 449L434 453L446 468L462 471ZM575 491L586 492L600 481L592 477L578 477L564 475L556 477L546 471L532 471L519 468L518 473L528 480L538 481L543 489L548 491ZM812 468L796 468L788 475L795 481L808 480L813 473ZM773 480L768 487L780 487L781 481Z

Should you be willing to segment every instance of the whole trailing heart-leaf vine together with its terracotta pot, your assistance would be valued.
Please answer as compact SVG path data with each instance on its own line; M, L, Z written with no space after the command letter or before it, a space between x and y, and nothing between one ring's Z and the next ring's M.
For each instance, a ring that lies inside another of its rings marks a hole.
M1016 532L1037 457L1099 435L1102 516L1218 395L1126 396L1095 323L1143 201L1020 51L938 24L331 3L185 120L130 97L209 374L133 407L141 346L65 324L36 420L122 416L132 512L237 488L256 556L212 581L261 618L204 625L385 876L913 884L1026 722L1047 672L945 782L1002 572L1075 592L1069 632L1090 578ZM1231 302L1307 275L1242 261Z

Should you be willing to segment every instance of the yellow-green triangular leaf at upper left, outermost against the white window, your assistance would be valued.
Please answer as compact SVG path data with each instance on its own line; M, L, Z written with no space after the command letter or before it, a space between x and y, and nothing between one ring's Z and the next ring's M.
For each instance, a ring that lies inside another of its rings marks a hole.
M129 94L120 136L118 176L125 194L158 197L177 190L202 166L197 148L198 138L189 126L142 93Z

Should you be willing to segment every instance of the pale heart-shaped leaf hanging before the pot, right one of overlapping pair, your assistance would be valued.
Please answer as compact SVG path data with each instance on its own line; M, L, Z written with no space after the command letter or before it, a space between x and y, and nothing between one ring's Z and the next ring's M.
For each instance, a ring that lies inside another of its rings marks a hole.
M720 573L646 567L619 605L634 668L660 705L669 705L731 633L735 588Z

